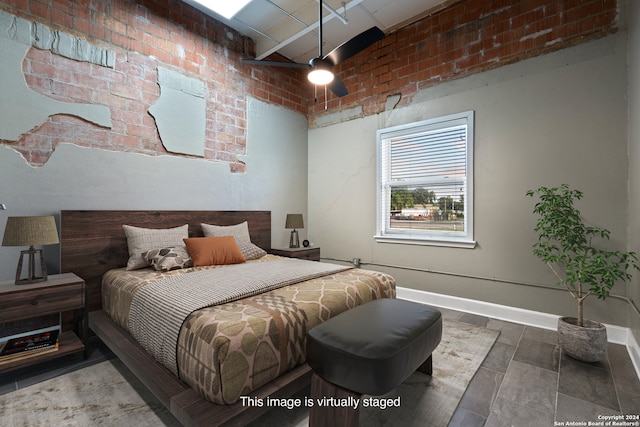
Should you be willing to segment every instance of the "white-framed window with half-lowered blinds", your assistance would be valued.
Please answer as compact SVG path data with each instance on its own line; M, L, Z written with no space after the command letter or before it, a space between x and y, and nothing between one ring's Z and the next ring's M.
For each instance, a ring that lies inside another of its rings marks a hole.
M469 247L474 112L377 132L379 242Z

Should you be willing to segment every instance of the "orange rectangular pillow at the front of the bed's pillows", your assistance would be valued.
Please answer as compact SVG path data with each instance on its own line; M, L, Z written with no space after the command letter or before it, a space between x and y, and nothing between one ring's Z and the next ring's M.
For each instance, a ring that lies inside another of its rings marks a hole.
M240 264L245 258L233 236L191 237L184 239L194 267Z

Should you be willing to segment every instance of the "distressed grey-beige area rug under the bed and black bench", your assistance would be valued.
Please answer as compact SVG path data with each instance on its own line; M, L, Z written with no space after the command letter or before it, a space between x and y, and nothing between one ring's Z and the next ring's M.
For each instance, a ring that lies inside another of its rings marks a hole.
M392 405L360 410L362 426L446 426L499 332L443 320L433 376L414 373L385 396ZM304 401L309 388L296 396ZM390 399L390 400L389 400ZM372 401L373 402L373 401ZM382 401L380 401L382 402ZM0 396L3 426L179 426L117 360L108 360ZM307 426L309 409L274 408L252 427Z

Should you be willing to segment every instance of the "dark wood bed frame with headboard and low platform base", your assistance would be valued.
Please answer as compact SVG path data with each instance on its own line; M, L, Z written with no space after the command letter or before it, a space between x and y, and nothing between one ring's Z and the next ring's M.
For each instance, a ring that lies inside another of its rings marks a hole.
M123 267L129 258L123 224L145 228L170 228L189 224L189 236L202 236L201 223L249 224L251 241L271 248L270 211L61 211L61 270L85 280L89 328L113 351L138 379L185 426L241 426L269 408L217 405L200 397L187 384L147 354L131 335L102 311L102 275ZM287 397L310 383L307 364L276 378L251 393Z

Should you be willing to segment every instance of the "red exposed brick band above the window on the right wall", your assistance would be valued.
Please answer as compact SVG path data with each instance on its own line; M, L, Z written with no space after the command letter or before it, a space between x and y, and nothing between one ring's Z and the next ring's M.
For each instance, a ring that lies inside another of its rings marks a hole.
M616 0L463 0L388 34L339 64L349 95L330 94L328 112L361 105L407 105L422 88L562 49L617 30ZM312 103L310 124L325 113Z

